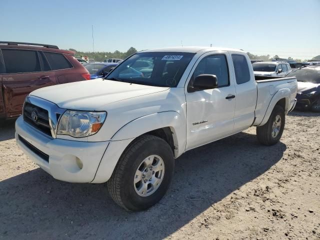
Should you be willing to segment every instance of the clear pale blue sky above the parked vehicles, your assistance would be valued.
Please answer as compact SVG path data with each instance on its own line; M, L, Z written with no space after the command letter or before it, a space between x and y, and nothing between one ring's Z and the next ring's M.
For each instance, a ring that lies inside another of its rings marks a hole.
M320 0L0 0L0 40L92 51L222 46L320 54Z

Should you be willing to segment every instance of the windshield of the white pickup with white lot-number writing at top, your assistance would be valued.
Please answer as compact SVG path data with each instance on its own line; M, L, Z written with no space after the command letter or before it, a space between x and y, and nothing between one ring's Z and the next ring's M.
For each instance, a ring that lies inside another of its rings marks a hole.
M106 79L174 87L193 55L188 52L138 52L111 71Z

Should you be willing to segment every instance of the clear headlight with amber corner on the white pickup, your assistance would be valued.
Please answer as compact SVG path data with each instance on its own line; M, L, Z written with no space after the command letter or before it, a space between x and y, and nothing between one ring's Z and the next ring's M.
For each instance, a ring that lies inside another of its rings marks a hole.
M84 137L96 133L102 126L106 112L66 110L58 124L57 134Z

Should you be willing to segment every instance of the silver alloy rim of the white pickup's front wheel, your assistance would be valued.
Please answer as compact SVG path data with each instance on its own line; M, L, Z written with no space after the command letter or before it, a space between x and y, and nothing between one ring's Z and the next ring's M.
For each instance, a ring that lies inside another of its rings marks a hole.
M164 176L164 161L156 154L145 157L135 171L133 186L140 196L149 196L160 186Z

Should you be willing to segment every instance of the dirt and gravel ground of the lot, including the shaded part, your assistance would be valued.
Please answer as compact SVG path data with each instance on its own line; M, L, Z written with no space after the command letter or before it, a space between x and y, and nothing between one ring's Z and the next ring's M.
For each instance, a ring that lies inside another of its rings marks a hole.
M290 113L274 146L252 127L186 152L166 196L135 213L104 184L53 179L0 124L0 239L320 239L320 114Z

